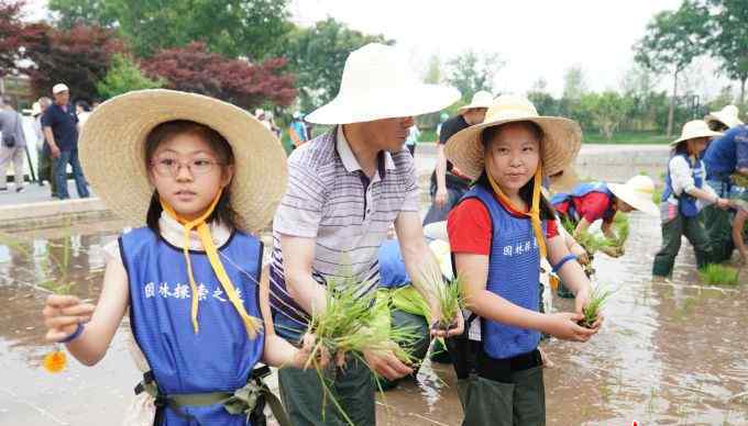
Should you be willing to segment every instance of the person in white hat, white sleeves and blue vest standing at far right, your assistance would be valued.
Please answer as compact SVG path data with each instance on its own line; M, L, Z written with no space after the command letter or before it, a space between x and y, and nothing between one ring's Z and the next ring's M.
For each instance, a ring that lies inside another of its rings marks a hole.
M718 197L705 182L705 166L701 154L710 138L719 135L721 133L711 131L704 121L694 120L685 123L681 137L670 144L672 154L660 200L662 248L654 256L654 277L670 277L683 235L693 246L700 269L712 261L713 247L698 221L698 211L704 204L727 209L730 203Z

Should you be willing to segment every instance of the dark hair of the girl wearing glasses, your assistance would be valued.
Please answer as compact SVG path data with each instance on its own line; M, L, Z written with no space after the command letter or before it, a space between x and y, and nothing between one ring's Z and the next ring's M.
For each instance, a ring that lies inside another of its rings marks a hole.
M205 141L210 148L216 153L221 167L226 167L234 164L233 150L229 142L221 136L220 133L208 127L205 124L196 123L189 120L173 120L158 124L154 127L148 136L145 138L145 168L151 170L151 161L153 160L153 155L155 154L158 146L172 139L178 135L195 135ZM158 233L158 218L163 208L161 206L161 201L158 198L158 191L154 190L153 195L151 195L151 204L148 205L148 212L145 216L145 223L153 229L153 232ZM221 198L216 204L216 209L206 222L210 223L216 221L219 224L228 226L229 228L237 228L237 212L231 208L231 191L230 184L223 188Z

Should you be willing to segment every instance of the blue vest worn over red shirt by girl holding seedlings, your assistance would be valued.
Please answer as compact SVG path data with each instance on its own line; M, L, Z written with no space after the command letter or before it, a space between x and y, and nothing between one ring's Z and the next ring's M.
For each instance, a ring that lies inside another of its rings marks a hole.
M482 186L474 186L462 201L480 200L488 210L492 242L486 290L528 310L538 311L540 250L529 218L515 217ZM546 224L543 223L543 231ZM540 333L481 318L483 350L505 359L535 350Z

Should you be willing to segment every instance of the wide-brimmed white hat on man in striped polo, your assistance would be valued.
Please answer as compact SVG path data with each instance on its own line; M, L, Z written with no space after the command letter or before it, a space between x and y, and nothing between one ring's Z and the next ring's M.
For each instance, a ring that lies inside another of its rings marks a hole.
M395 47L371 43L349 55L338 96L306 121L350 124L415 116L444 109L459 98L454 88L421 82Z

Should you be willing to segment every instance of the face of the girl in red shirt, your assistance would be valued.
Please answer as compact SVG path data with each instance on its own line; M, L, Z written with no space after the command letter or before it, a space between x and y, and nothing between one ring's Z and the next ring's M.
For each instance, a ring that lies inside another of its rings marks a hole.
M507 195L517 193L540 165L540 142L528 126L505 124L486 147L485 161L502 191Z

